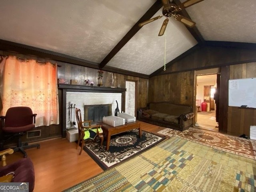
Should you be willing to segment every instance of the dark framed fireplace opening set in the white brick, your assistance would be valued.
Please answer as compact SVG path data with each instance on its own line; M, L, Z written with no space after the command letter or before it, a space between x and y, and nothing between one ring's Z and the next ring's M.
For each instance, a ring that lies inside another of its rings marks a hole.
M102 121L104 116L112 115L112 104L85 105L84 121L92 120L93 123Z

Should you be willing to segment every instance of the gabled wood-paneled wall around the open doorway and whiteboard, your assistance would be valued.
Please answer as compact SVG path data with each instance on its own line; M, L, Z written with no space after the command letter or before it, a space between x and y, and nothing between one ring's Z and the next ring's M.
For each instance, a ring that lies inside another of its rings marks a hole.
M256 125L256 109L228 106L228 80L256 77L255 60L255 50L251 49L212 46L197 48L168 66L166 71L149 79L148 101L170 101L194 106L195 70L220 67L219 131L235 136L250 136L250 125Z

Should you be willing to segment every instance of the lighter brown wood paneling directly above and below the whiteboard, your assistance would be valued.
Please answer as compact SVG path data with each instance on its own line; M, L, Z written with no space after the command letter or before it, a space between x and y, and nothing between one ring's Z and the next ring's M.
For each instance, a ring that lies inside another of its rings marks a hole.
M229 79L255 78L256 62L232 65L229 71ZM228 106L228 134L250 136L251 125L256 125L256 109Z

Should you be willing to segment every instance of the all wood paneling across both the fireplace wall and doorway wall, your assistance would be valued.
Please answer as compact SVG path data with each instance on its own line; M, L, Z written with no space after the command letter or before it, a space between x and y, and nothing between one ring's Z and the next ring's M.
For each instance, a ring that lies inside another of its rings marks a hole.
M0 53L4 54L4 52ZM198 46L186 57L167 65L166 71L160 71L158 76L153 76L149 80L114 72L104 72L103 86L125 88L126 80L136 81L138 87L137 108L145 107L148 102L160 101L194 106L195 70L220 67L221 131L233 135L249 135L249 126L256 125L256 112L254 109L228 107L227 91L229 79L256 77L255 61L256 54L253 49ZM62 65L58 68L58 78L65 78L69 81L75 79L80 85L84 85L86 79L94 81L95 85L98 84L97 69L63 62L57 62L57 64ZM61 98L60 102L62 102ZM62 124L61 118L60 122ZM45 130L44 135L46 137L58 135L61 131L61 124L53 126L54 130L42 128Z

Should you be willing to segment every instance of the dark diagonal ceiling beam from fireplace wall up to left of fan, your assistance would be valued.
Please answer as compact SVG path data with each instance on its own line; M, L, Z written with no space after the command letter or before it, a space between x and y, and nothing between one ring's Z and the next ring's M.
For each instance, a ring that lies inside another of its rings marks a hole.
M100 69L104 66L120 51L120 49L141 29L139 23L149 20L158 12L162 7L161 0L156 0L156 2L149 8L149 10L138 20L138 22L128 31L128 33L118 42L118 44L110 51L110 53L102 60L100 63Z

